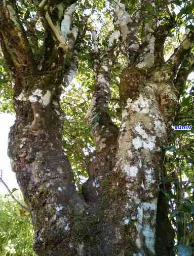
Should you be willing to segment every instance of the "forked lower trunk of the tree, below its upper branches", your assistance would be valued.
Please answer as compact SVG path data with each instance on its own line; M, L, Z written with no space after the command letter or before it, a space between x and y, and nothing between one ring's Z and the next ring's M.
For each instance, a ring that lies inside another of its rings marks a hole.
M96 99L102 100L99 88L108 80L99 77ZM105 111L93 123L101 146L90 164L86 202L75 190L61 146L60 70L16 80L9 155L30 209L37 255L164 255L154 249L157 201L162 145L177 95L160 77L153 72L147 78L136 67L123 72L118 143L117 128L106 123Z

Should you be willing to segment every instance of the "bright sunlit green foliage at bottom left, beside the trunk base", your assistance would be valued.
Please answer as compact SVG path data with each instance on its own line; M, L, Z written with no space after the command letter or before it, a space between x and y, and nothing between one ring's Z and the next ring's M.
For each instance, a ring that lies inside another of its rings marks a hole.
M18 194L21 202L21 194ZM20 209L9 196L0 197L0 255L35 256L29 213Z

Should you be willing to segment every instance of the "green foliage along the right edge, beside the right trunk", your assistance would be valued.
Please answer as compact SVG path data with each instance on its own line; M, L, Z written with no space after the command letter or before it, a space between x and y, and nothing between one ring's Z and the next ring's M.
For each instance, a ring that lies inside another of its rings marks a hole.
M194 125L192 82L187 83L189 94L183 92L179 119L175 125ZM169 198L178 255L192 255L194 245L194 130L171 133L172 143L166 148L167 183L172 185Z

